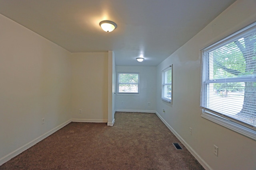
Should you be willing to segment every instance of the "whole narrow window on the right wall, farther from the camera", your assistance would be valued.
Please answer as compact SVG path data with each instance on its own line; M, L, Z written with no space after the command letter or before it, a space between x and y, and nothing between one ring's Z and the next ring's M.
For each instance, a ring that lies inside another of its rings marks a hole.
M162 100L172 102L172 66L162 70Z

